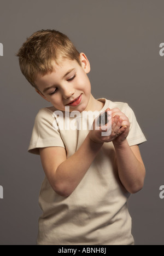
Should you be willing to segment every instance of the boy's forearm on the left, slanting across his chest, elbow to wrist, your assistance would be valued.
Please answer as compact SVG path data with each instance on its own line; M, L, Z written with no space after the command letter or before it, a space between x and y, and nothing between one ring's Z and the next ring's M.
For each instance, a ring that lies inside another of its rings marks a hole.
M83 179L102 144L97 144L86 136L79 149L56 169L55 190L63 196L70 195Z

